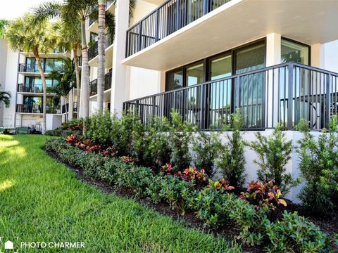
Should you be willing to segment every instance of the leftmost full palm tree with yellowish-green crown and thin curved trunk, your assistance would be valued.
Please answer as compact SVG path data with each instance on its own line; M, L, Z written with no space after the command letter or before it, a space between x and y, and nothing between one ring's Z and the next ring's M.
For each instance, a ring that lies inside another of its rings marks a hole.
M43 95L43 133L46 132L46 78L42 68L39 53L49 53L56 45L56 32L51 30L51 24L46 20L35 24L34 16L25 13L23 18L16 18L6 27L5 37L13 51L21 50L33 53L42 79Z

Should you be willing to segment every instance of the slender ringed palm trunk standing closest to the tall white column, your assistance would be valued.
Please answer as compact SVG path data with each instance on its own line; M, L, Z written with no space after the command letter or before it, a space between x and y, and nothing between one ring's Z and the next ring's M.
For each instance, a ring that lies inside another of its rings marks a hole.
M99 1L99 41L98 41L98 61L97 61L97 111L104 110L104 68L106 65L105 56L105 30L106 27L106 4L104 0Z

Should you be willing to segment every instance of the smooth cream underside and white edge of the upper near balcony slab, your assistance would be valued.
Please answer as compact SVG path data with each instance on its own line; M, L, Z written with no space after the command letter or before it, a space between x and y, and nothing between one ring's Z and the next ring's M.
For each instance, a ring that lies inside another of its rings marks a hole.
M232 0L123 60L170 70L272 32L306 44L338 39L338 0Z

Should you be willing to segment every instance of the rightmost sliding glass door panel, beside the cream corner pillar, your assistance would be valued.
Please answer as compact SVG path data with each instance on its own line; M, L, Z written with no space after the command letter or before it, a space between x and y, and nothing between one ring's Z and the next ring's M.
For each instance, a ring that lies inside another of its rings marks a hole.
M235 51L235 74L258 70L265 67L265 44L256 44ZM235 108L244 115L244 127L262 126L263 72L248 74L236 79Z

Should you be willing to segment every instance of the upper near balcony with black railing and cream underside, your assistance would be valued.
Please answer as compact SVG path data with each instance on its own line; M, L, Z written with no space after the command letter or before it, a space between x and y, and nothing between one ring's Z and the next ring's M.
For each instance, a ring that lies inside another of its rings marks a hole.
M206 14L204 8L194 8L197 11L194 15L194 11L189 11L190 4L185 4L188 8L176 8L177 3L176 0L165 1L171 5L160 6L127 30L127 58L123 64L172 70L270 33L308 45L338 38L333 25L338 22L335 11L338 1L323 4L322 1L231 0L207 9ZM306 11L300 11L304 8ZM177 10L182 11L177 13Z

